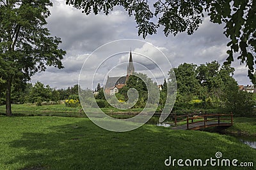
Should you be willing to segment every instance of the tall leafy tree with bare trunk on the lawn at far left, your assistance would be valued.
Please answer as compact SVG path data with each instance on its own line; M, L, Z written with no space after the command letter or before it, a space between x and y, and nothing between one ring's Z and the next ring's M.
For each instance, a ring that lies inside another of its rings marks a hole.
M6 82L6 115L11 116L13 80L28 81L46 66L63 68L65 51L58 48L60 38L53 38L46 18L51 1L0 1L0 74Z

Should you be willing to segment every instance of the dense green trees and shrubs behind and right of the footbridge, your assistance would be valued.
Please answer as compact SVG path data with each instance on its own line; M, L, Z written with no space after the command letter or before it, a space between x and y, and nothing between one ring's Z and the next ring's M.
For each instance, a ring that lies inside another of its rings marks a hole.
M239 90L234 67L216 61L180 64L174 68L177 98L174 110L216 109L236 115L255 114L255 94Z

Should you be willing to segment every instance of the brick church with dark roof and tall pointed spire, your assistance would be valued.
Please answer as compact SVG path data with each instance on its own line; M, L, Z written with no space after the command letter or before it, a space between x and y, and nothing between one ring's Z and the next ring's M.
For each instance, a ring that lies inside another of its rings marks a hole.
M119 89L122 89L126 84L129 76L134 73L134 66L132 64L132 52L130 52L129 64L127 66L127 74L126 76L121 77L109 77L104 86L104 90L106 94L113 95L118 92Z

